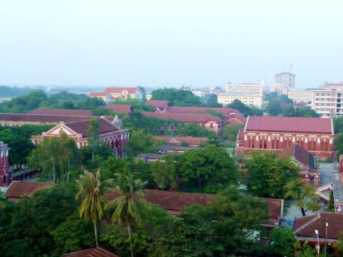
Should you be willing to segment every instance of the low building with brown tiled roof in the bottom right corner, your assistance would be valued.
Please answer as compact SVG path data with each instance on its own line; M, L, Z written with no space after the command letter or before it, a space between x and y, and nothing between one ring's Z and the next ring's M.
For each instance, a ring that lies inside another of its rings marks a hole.
M294 219L293 233L296 241L307 242L314 247L319 244L322 250L327 242L328 252L333 252L333 245L340 238L340 232L343 232L343 214L340 213L318 212L316 215Z

